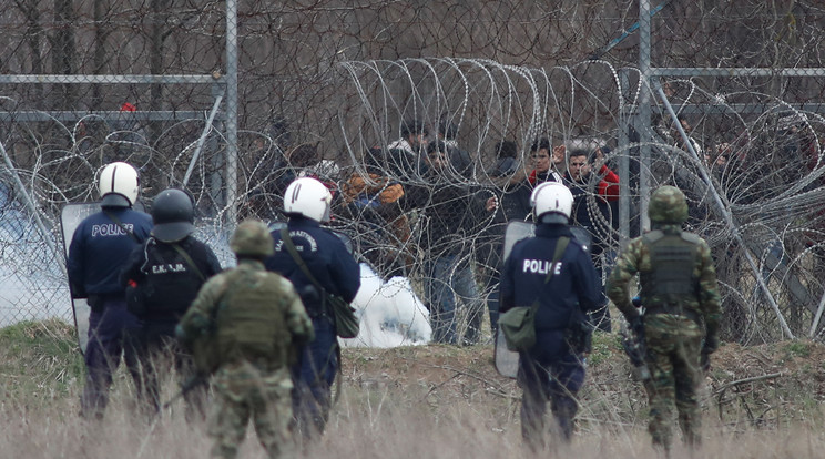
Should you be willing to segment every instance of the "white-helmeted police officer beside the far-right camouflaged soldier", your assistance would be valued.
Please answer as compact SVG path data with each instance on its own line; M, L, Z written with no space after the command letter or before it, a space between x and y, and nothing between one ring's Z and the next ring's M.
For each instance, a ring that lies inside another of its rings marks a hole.
M590 255L568 226L573 196L567 186L542 183L530 201L536 237L513 245L505 261L500 288L502 313L538 302L536 345L521 353L517 377L524 391L521 434L538 451L543 448L548 400L561 437L570 440L573 434L576 395L584 382L583 353L588 350L579 346L587 338L581 336L581 326L587 322L585 313L598 306L601 289ZM563 252L553 264L559 244ZM577 338L576 343L570 338Z

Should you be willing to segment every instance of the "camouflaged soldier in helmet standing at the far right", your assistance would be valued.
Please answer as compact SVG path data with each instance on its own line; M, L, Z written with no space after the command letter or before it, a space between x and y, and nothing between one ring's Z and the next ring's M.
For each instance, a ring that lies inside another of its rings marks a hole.
M608 296L633 329L643 329L652 379L650 434L655 447L671 446L671 412L679 411L683 440L700 442L701 412L696 387L702 360L719 347L722 315L716 271L707 244L683 232L688 218L684 194L673 186L653 192L648 207L652 231L630 242L608 278ZM644 316L631 303L628 284L641 282ZM704 338L704 339L703 339Z

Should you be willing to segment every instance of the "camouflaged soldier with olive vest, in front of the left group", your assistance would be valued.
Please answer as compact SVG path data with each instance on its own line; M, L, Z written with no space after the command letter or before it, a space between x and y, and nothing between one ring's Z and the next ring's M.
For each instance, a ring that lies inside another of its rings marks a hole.
M264 268L273 244L263 222L242 222L230 247L237 267L204 284L176 332L183 343L206 334L215 344L212 457L237 456L249 418L271 458L292 457L287 360L292 346L313 339L312 323L292 284Z

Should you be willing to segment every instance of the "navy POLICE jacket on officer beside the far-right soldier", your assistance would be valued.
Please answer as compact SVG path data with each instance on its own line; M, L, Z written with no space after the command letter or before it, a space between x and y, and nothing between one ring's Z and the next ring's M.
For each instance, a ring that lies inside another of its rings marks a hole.
M552 263L556 242L571 238L561 257L561 266L549 283L544 283ZM601 280L590 255L573 238L567 225L536 227L536 237L519 241L505 261L501 273L501 312L516 306L531 306L539 299L536 330L562 330L579 307L583 313L601 302Z

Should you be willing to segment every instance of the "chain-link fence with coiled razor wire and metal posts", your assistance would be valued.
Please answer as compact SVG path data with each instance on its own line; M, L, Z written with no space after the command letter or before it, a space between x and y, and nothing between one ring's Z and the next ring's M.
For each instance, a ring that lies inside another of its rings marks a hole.
M825 9L641 3L13 2L3 323L68 317L59 211L95 200L113 160L141 169L145 197L190 190L221 247L236 216L277 218L288 181L319 176L379 275L480 313L503 225L528 218L544 164L563 175L584 150L579 223L605 268L650 190L676 184L716 258L725 338L819 337ZM441 157L419 150L416 122L421 146L441 131Z

